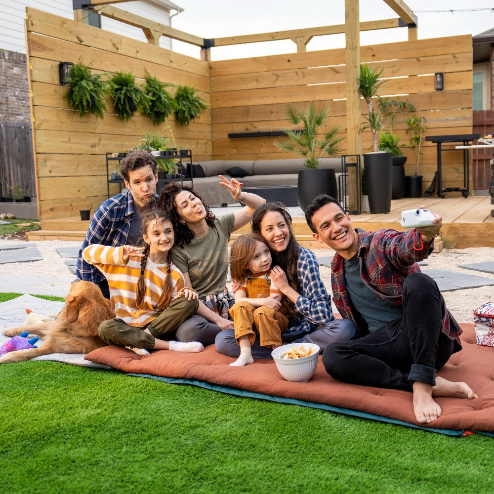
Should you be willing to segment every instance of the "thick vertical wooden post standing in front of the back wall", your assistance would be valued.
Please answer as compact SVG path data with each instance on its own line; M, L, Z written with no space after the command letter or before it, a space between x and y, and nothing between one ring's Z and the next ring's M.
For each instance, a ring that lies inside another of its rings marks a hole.
M345 48L347 154L360 155L362 154L362 136L360 134L360 94L358 85L360 76L359 0L345 0ZM350 183L356 183L355 177L349 177ZM357 209L356 191L353 194L351 192L349 191L351 200L349 199L348 206L350 209Z

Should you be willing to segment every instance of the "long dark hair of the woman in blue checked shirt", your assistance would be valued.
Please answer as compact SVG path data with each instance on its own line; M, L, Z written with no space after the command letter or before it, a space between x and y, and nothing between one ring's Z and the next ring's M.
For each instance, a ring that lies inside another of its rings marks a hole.
M268 212L278 212L283 216L285 222L287 223L288 232L290 235L290 238L288 239L288 246L283 252L276 252L270 249L271 255L273 257L272 264L278 264L278 266L280 266L283 271L285 271L289 286L300 293L300 280L297 273L300 250L291 229L292 220L287 207L283 203L279 202L265 203L259 206L252 215L252 231L262 236L261 222ZM285 305L286 307L286 310L282 311L285 313L285 315L287 315L287 313L288 315L297 314L295 309L293 308L293 302L289 300L288 297L283 297L283 305Z

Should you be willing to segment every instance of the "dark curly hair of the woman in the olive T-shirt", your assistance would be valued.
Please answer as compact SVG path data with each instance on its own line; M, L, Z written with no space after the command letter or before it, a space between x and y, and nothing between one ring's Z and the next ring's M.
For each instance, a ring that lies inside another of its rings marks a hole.
M180 217L180 213L177 210L177 205L175 203L175 198L182 191L190 192L194 194L202 203L206 210L206 223L208 226L214 225L214 220L216 216L209 210L209 206L204 204L202 197L189 185L185 185L181 182L169 183L160 194L160 199L158 200L158 207L165 209L171 213L171 224L173 225L173 230L175 232L175 244L179 247L183 247L184 244L190 244L191 240L194 238L194 232L183 223Z

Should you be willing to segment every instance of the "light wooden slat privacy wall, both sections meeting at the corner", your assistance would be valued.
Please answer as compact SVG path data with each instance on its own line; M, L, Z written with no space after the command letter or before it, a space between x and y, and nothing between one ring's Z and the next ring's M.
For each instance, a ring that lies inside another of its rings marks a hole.
M82 208L94 210L106 198L105 153L133 147L147 131L164 131L166 125L179 145L192 150L195 162L292 158L273 145L272 137L228 138L229 133L286 127L288 104L327 105L334 123L346 133L344 49L206 62L40 10L26 10L41 220L76 215ZM210 109L185 127L176 125L173 118L153 127L139 114L121 122L111 103L103 120L93 115L80 118L68 108L67 87L58 81L58 62L80 58L103 74L132 71L142 82L147 70L162 82L193 85L202 91ZM382 96L400 95L425 116L424 136L472 131L471 36L362 46L361 61L383 69ZM435 72L444 73L443 91L434 90ZM403 113L395 119L394 130L403 144L409 138L405 134L409 116ZM370 143L370 133L364 132L364 152ZM436 154L431 143L422 145L419 173L426 187L436 169ZM409 158L406 171L412 174L413 154L407 148L404 151ZM444 187L462 179L461 160L461 153L451 153L444 166Z

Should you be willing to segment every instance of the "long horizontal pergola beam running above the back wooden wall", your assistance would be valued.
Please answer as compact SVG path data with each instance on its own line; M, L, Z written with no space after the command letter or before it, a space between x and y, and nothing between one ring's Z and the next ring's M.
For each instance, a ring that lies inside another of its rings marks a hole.
M373 31L377 29L390 29L403 27L400 19L383 19L380 21L367 21L360 23L361 31ZM345 32L345 24L335 26L322 26L317 28L292 29L290 31L276 31L273 33L249 34L244 36L230 36L226 38L214 38L213 46L227 46L230 44L257 43L260 41L296 40L300 38L313 38Z

